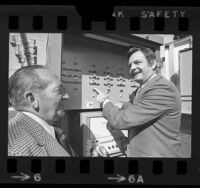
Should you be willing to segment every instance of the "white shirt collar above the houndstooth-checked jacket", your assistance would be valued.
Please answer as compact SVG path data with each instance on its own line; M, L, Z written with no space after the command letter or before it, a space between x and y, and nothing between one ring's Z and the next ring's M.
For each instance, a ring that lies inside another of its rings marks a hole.
M22 112L25 115L33 118L35 121L37 121L51 136L55 137L55 130L54 127L49 125L46 121L42 120L40 117L36 116L35 114L32 114L31 112Z

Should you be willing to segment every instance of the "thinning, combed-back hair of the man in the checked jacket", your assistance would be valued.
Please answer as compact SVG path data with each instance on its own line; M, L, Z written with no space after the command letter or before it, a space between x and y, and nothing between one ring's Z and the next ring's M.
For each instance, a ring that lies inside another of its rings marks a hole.
M37 73L38 69L47 68L42 65L25 66L9 78L8 98L11 106L17 108L26 105L24 101L26 91L38 92L47 87L48 83L40 78Z

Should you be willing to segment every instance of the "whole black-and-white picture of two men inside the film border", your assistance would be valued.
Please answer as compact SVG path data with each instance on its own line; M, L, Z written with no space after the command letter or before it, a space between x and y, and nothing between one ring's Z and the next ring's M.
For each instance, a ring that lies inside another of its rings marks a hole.
M8 156L191 158L192 39L9 33Z

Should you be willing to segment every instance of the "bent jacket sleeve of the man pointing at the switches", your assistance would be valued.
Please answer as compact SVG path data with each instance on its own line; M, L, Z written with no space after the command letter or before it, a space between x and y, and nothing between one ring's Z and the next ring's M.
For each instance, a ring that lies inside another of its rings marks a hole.
M103 116L115 129L129 129L152 123L173 109L176 93L169 90L169 87L151 88L138 101L128 103L128 106L121 110L108 102L103 109Z

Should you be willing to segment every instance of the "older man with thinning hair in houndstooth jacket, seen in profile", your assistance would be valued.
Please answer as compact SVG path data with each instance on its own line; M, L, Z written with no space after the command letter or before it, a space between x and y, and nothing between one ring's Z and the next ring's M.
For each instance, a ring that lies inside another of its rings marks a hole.
M41 65L18 69L9 78L9 101L18 111L8 125L8 156L75 156L62 130L64 90L58 77Z

